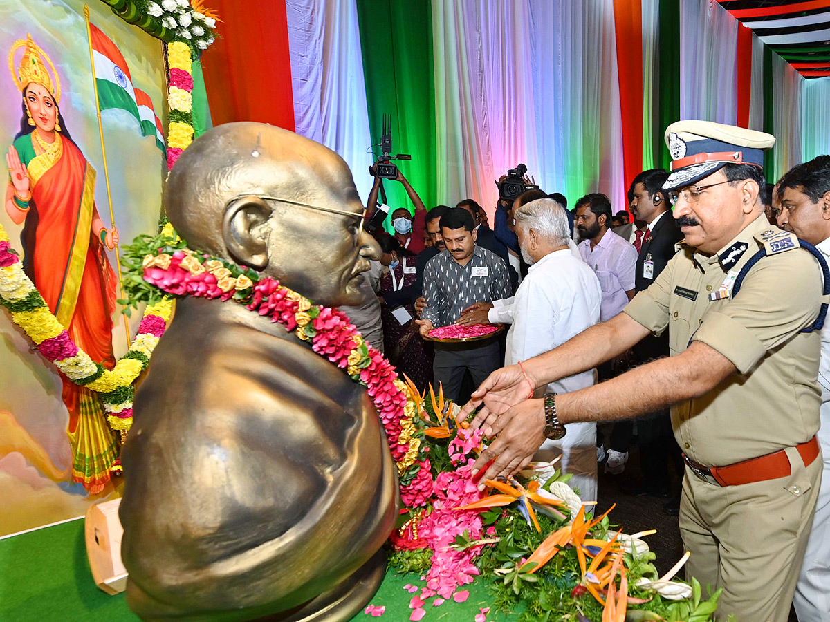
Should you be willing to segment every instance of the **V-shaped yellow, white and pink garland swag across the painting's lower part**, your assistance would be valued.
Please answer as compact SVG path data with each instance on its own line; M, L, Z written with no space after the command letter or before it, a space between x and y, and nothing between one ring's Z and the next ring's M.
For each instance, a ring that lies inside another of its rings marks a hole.
M22 266L0 225L0 305L12 313L12 322L67 378L98 393L113 430L129 430L133 422L133 383L149 365L149 357L170 319L173 301L161 300L144 310L129 351L108 370L72 341Z

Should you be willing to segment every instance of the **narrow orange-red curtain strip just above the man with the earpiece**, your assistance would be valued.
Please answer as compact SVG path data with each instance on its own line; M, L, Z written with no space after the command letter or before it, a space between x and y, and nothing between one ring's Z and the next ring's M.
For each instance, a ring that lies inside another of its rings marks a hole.
M623 170L626 183L642 171L642 3L614 0L620 113L623 117Z

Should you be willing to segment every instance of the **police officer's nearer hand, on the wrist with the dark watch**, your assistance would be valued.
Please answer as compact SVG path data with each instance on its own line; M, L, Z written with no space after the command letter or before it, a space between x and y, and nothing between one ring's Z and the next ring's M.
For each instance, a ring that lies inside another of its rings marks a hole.
M500 414L491 425L496 440L472 465L474 480L484 490L486 479L508 478L524 469L544 443L544 402L523 400ZM479 471L484 471L481 475Z

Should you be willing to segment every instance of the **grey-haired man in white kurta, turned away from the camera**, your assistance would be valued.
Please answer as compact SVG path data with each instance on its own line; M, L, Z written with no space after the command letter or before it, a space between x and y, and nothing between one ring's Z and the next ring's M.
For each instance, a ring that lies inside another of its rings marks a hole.
M569 249L570 231L563 207L553 199L538 199L520 207L514 218L522 256L530 270L513 300L505 365L547 352L598 323L603 297L597 275ZM593 383L592 370L537 391L540 395L546 391L567 393ZM562 439L545 440L535 459L549 461L561 455L554 468L573 476L569 484L579 489L583 501L596 501L597 425L577 423L566 428Z

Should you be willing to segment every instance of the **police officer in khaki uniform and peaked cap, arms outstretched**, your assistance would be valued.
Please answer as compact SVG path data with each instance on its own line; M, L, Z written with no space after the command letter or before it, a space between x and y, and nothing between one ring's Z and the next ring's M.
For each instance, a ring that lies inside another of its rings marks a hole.
M759 198L769 134L703 121L666 129L664 188L685 240L618 316L491 374L464 407L496 435L474 472L512 474L574 421L671 406L686 456L680 527L688 575L723 587L719 615L785 622L821 478L818 321L823 260L770 226ZM764 253L758 255L759 250ZM756 256L757 255L757 256ZM744 270L746 268L746 270ZM826 267L825 267L826 269ZM671 357L543 400L532 387L583 372L668 329ZM811 332L805 332L811 331Z

